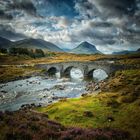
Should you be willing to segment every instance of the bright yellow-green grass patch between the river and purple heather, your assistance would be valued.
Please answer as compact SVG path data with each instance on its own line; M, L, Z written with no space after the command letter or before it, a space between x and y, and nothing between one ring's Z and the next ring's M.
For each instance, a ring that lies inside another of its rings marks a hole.
M37 110L48 113L51 119L66 126L94 128L100 123L106 125L103 116L111 111L110 107L103 106L98 99L92 97L69 99ZM93 117L84 116L84 111L91 111Z

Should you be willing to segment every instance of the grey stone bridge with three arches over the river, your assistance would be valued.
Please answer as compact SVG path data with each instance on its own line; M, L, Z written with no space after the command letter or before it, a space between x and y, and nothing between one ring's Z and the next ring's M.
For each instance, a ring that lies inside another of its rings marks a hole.
M61 77L70 76L72 68L78 68L83 72L85 77L91 77L93 71L96 69L104 70L108 75L114 74L118 70L125 69L123 65L116 65L113 61L92 61L92 62L60 62L50 64L38 64L39 68L45 69L48 75L53 75L60 72Z

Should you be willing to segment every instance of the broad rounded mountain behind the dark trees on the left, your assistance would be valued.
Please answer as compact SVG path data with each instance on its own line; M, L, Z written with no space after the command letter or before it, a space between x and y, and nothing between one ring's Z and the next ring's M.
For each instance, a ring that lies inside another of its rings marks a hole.
M64 52L62 49L60 49L58 46L54 45L51 42L47 42L41 39L32 39L32 38L17 41L11 47L43 49L43 50L46 49L52 52Z

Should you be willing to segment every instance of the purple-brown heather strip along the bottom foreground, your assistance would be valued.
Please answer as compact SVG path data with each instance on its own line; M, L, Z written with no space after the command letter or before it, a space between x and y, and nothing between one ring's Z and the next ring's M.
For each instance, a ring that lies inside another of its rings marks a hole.
M128 140L128 133L113 129L67 128L45 114L20 110L0 112L0 140Z

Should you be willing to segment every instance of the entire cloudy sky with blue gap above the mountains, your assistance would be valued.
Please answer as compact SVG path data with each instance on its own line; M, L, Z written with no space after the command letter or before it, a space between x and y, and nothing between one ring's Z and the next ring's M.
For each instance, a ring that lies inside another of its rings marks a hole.
M104 53L140 48L140 0L0 0L0 36Z

